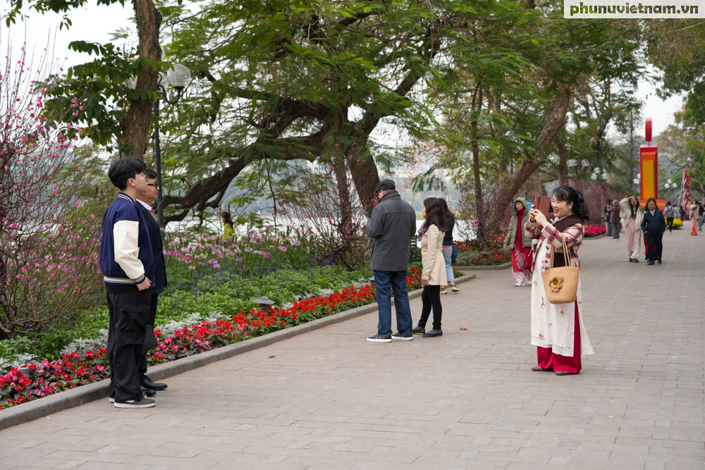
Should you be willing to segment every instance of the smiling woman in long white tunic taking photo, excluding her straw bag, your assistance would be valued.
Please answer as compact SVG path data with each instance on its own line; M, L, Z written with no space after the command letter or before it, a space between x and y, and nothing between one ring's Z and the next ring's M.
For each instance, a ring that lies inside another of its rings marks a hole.
M531 289L531 344L537 347L538 365L532 371L555 371L559 376L580 373L581 354L593 354L590 339L582 321L580 278L577 299L570 304L548 302L542 276L551 267L551 251L556 249L553 267L565 266L563 241L568 247L570 265L580 267L577 250L584 237L584 222L590 214L580 192L570 186L553 190L553 218L549 222L541 211L532 207L525 225L528 237L539 240L534 256L534 278Z

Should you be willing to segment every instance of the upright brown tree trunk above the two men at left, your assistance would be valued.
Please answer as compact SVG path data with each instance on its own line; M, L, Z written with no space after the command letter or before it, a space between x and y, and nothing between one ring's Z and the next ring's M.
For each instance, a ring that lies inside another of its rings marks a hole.
M140 38L140 57L152 61L161 60L161 47L159 47L159 26L161 13L154 7L152 0L134 0L135 18L137 18L137 32ZM154 92L157 89L157 75L159 70L145 66L137 76L135 90ZM141 159L147 151L147 142L152 129L152 110L154 101L142 99L132 101L130 108L120 123L118 147L120 156L134 156Z

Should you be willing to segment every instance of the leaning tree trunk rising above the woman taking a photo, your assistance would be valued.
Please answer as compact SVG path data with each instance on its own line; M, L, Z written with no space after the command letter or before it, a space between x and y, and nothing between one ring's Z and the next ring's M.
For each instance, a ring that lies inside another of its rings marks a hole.
M517 171L509 175L499 188L497 200L492 208L487 223L493 230L499 230L499 223L509 204L514 199L514 195L522 185L531 178L537 169L546 162L548 145L553 142L558 134L558 130L565 124L565 114L568 113L568 103L570 102L570 87L565 83L557 83L558 94L553 99L551 113L546 118L544 129L541 130L539 140L537 140L536 152L532 159L524 159L517 167Z

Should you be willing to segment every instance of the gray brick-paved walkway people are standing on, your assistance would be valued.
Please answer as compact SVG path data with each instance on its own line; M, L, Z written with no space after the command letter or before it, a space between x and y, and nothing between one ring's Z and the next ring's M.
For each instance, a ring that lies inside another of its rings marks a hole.
M168 379L152 409L1 431L0 467L704 469L705 235L664 246L663 266L582 246L578 376L529 371L529 288L477 271L443 297L443 338L369 343L362 316Z

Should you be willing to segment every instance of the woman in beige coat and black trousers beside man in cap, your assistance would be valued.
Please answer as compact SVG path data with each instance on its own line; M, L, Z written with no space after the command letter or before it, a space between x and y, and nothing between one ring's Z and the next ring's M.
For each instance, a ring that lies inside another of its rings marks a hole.
M422 215L426 219L419 229L421 240L421 259L424 265L421 275L421 285L424 286L421 299L423 307L419 324L412 329L417 335L424 338L433 338L443 335L441 330L441 285L448 285L446 277L446 261L443 259L443 235L446 230L446 210L443 202L437 197L429 197L424 201ZM426 322L431 309L434 311L434 328L426 331Z

